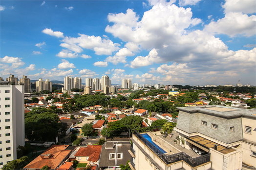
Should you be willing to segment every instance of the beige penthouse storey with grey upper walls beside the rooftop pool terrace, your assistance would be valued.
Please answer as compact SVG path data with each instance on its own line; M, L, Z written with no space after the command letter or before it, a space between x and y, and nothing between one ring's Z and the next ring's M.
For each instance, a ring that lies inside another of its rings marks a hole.
M174 128L185 148L211 153L214 170L256 167L256 109L219 105L179 107Z

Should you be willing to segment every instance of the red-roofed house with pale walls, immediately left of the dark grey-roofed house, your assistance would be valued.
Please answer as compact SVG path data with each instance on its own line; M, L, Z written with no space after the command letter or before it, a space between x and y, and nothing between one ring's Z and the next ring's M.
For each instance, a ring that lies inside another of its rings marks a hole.
M79 163L87 163L87 166L97 165L101 154L101 148L101 145L80 147L74 156Z

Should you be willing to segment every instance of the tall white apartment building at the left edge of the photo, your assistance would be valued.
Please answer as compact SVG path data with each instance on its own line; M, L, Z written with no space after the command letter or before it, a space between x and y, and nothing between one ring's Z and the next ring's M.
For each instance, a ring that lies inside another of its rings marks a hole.
M25 144L23 85L0 85L0 122L2 168L9 161L17 159L17 147Z

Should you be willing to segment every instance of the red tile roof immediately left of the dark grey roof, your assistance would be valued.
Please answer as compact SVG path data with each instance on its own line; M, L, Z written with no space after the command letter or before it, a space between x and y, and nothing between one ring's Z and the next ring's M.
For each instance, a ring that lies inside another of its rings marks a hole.
M102 145L88 145L81 147L75 156L89 156L88 161L97 162L100 158Z

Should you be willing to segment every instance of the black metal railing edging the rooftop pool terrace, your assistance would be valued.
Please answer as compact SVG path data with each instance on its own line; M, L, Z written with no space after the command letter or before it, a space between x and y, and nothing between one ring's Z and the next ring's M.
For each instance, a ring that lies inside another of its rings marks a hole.
M133 135L138 137L146 146L149 147L149 149L153 153L155 153L166 164L171 164L171 163L183 160L190 166L196 167L196 166L202 165L204 163L210 162L211 153L207 153L205 155L202 155L202 156L196 157L196 158L192 158L191 156L189 156L188 154L186 154L184 152L166 155L162 151L160 151L158 148L156 148L152 143L150 143L145 137L140 135L136 130L134 130Z

